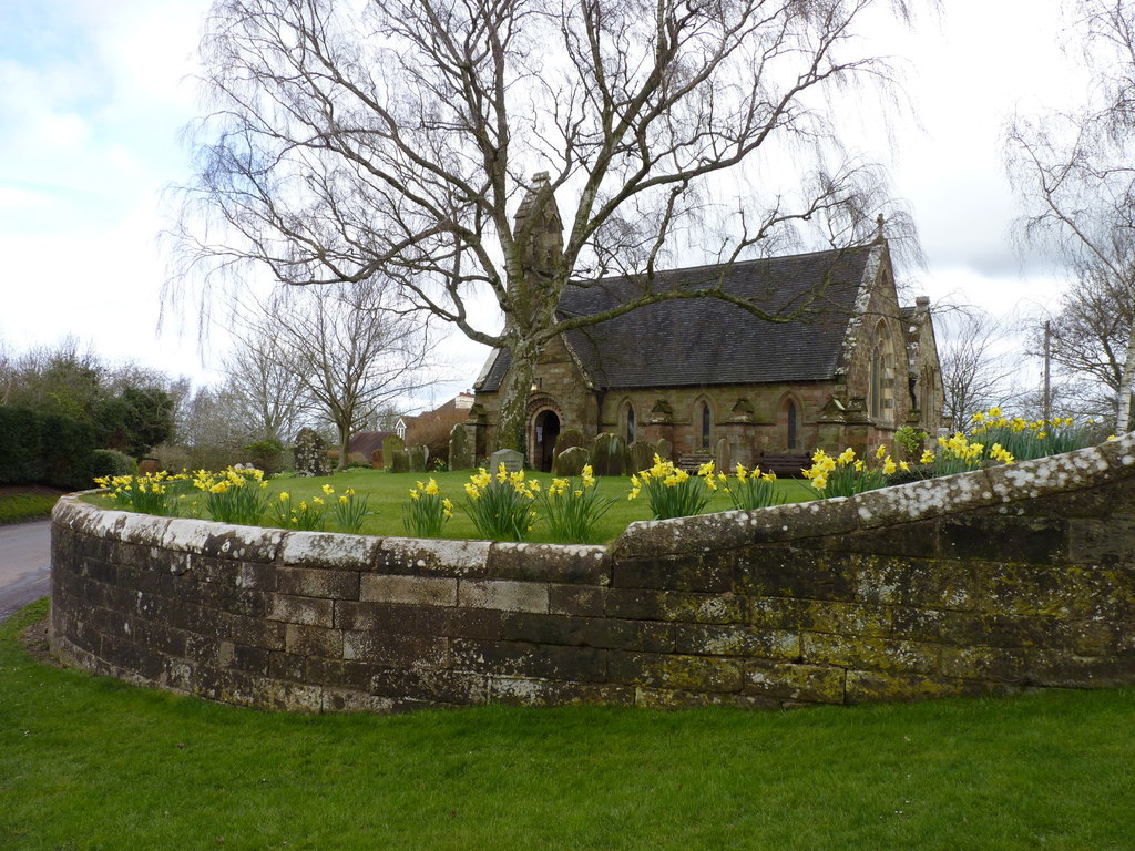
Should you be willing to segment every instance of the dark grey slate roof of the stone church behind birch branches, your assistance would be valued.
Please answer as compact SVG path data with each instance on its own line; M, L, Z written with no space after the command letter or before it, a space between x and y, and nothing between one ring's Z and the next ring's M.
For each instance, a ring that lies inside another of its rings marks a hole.
M721 280L726 293L768 311L788 311L819 293L802 315L767 322L717 298L674 298L566 334L568 345L596 388L680 387L831 379L840 365L848 322L864 283L867 245L658 272L655 292L692 289ZM641 294L633 276L573 284L560 318L592 315ZM494 353L479 390L495 393L510 364Z

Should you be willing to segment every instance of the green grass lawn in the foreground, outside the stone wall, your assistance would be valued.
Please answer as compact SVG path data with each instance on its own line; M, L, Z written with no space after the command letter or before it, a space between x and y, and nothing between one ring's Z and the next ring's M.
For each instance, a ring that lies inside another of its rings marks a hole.
M0 848L1130 849L1135 690L287 716L34 660L0 624Z

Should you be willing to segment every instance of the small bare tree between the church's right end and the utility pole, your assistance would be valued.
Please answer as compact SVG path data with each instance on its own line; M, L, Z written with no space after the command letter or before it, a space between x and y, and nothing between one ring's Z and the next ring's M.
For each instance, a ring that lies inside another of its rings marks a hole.
M1006 323L989 313L966 309L941 319L942 390L947 416L965 429L978 411L1011 404L1018 395L1017 361L1008 351Z

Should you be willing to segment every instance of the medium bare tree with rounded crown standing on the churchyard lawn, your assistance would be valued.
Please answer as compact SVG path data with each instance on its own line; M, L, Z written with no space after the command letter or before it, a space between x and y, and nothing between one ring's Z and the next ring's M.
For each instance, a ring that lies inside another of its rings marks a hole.
M377 280L285 288L251 320L257 337L276 340L262 353L335 426L339 470L352 431L432 380L427 323L392 310L392 302Z

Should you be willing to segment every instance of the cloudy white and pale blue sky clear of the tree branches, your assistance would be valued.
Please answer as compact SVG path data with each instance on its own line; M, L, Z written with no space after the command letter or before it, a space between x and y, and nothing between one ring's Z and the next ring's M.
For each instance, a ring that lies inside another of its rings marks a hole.
M994 313L1053 306L1059 279L1012 248L1019 211L1000 136L1014 110L1075 98L1058 2L943 5L916 33L875 40L906 69L917 115L892 124L891 151L871 152L919 227L928 268L916 288ZM10 352L75 335L111 362L216 378L222 332L203 351L195 315L167 318L158 332L161 191L187 176L179 133L199 113L191 77L207 9L208 0L3 0L0 344ZM460 342L449 352L454 380L439 401L471 385L484 356Z

